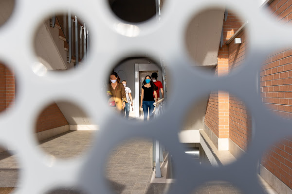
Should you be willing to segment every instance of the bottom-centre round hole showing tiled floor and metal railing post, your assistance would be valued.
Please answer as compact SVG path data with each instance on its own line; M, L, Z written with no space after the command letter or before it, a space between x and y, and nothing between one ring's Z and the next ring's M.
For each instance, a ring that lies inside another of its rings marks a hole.
M115 193L165 194L170 190L173 184L170 181L173 179L171 155L160 145L159 174L153 160L156 153L152 146L156 145L152 139L133 138L111 150L105 177ZM162 178L155 178L156 175Z

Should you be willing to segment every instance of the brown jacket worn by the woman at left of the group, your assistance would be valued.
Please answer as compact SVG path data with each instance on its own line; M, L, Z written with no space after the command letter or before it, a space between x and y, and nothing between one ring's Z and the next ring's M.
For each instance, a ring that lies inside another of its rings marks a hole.
M115 89L112 88L111 83L108 86L108 91L112 94L112 96L109 99L109 102L115 101L116 107L119 111L123 109L123 101L126 103L127 97L126 97L126 92L125 92L125 87L122 83L118 83Z

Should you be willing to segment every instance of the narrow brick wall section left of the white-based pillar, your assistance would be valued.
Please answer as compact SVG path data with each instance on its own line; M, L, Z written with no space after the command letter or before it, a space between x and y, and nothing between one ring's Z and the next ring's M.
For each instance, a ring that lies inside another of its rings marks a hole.
M219 113L218 113L218 93L211 93L209 96L205 115L205 125L211 129L217 137L219 136Z

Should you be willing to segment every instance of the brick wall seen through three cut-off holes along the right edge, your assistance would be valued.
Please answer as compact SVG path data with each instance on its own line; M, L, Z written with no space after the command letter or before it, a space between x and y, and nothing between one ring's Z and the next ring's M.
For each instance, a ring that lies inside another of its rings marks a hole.
M274 0L268 12L280 24L292 24L292 0ZM279 116L292 119L292 49L274 48L260 71L263 103ZM273 144L261 164L292 189L292 138Z

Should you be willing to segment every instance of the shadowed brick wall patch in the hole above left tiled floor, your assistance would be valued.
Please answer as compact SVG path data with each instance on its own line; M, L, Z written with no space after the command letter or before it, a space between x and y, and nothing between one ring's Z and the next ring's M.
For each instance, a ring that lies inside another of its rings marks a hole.
M60 111L56 103L49 105L42 113L40 113L37 119L36 132L53 129L68 125L63 113Z

